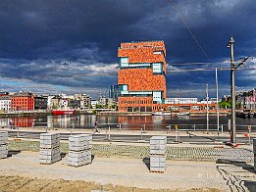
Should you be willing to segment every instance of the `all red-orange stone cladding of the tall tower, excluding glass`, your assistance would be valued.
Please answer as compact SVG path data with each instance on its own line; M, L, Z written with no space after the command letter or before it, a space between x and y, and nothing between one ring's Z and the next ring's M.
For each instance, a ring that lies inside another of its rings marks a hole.
M154 52L161 52L161 54ZM121 43L118 57L128 57L129 64L163 63L164 74L153 74L152 69L120 69L118 84L128 84L128 91L163 91L163 98L166 98L166 48L164 41ZM164 106L153 104L152 96L119 97L119 111L128 112L128 107L133 110L150 108L152 111L158 111Z

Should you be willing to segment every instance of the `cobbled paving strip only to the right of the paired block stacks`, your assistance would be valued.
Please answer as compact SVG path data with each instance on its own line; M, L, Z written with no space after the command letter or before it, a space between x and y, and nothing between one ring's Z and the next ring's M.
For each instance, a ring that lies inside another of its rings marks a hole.
M93 154L102 157L149 157L149 146L94 144ZM207 147L167 147L167 160L213 161L225 159L236 162L253 161L253 153L246 149Z

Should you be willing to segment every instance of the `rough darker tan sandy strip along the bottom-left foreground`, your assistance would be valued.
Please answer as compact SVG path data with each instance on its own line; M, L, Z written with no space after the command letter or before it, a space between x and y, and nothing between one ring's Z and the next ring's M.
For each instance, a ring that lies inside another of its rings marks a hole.
M160 192L157 189L141 189L135 187L126 187L112 184L101 185L95 182L85 182L81 180L64 180L64 179L42 179L26 176L0 176L0 191L41 191L41 192L70 192L70 191L113 191L113 192ZM171 190L166 190L171 191Z

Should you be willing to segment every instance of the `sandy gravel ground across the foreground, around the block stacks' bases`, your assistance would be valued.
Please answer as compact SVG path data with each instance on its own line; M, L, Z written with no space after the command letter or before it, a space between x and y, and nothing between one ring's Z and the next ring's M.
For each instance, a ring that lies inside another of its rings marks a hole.
M149 172L146 161L139 159L96 157L91 165L74 168L66 156L53 165L40 165L37 152L21 152L0 162L0 191L80 191L82 186L84 191L229 190L221 176L212 179L219 174L213 162L167 161L164 173Z

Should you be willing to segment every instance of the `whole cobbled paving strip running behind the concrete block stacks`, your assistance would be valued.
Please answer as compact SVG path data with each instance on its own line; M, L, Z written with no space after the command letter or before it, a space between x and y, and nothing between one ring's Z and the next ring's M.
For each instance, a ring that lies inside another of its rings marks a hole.
M169 145L167 148L168 160L185 161L210 161L216 162L218 159L226 159L236 162L253 162L253 153L242 148L214 148L195 147L194 145ZM38 141L11 140L10 150L39 151ZM68 143L61 143L61 152L68 153ZM127 157L143 159L149 157L149 144L122 144L122 143L94 143L92 153L97 157Z

